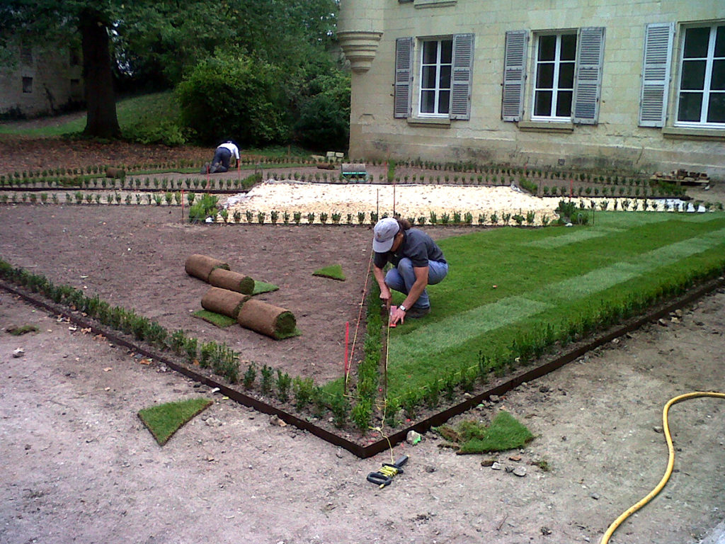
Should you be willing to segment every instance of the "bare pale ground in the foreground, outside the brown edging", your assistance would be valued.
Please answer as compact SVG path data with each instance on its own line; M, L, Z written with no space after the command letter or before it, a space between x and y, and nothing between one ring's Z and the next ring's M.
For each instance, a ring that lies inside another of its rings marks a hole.
M679 323L647 326L462 416L505 408L524 421L534 441L496 458L526 477L426 434L395 448L410 456L405 474L378 490L365 475L388 453L361 461L270 425L0 293L3 329L39 329L0 331L0 542L598 542L663 474L664 403L723 384L724 304L724 292L705 297ZM215 404L160 448L136 412L197 395ZM676 471L613 543L694 543L724 519L724 411L716 399L672 409Z

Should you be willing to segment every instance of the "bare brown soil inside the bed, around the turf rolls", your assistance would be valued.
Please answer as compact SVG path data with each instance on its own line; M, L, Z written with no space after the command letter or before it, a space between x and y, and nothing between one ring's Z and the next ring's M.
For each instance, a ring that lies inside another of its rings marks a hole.
M258 366L315 376L319 382L341 375L345 323L355 330L363 302L368 227L182 225L181 208L133 206L5 206L0 223L14 226L14 236L0 240L0 256L13 265L89 296L99 294L167 330L226 342ZM192 313L202 309L210 286L184 271L186 257L194 253L277 285L278 291L258 297L294 313L302 334L276 341L195 318ZM336 263L346 281L312 276ZM356 348L356 353L361 352Z

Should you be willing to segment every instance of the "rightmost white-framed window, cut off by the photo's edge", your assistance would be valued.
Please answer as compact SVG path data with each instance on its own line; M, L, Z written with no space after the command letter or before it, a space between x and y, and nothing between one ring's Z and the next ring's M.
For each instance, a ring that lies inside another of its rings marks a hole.
M725 25L683 29L676 125L725 127Z

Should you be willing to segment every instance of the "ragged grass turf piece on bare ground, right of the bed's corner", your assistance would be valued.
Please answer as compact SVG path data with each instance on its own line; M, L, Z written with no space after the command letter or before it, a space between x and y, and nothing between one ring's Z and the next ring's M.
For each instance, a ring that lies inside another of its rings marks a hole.
M513 450L534 438L525 425L504 410L496 414L489 426L478 421L461 421L455 427L442 425L433 430L457 445L460 455Z

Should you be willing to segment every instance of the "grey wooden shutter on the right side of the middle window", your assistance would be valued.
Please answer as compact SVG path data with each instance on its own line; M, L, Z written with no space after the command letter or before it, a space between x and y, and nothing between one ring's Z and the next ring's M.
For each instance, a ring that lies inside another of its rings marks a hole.
M573 121L596 125L599 119L604 64L604 27L579 30L576 48L576 77L574 78Z

